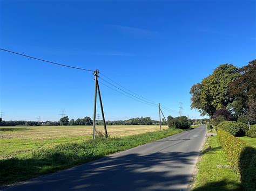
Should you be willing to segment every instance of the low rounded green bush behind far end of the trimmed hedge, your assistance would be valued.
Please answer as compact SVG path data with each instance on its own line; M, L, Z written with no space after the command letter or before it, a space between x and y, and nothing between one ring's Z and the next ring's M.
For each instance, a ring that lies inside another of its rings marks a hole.
M242 123L224 121L217 126L217 129L223 129L235 137L242 137L245 136L248 126Z

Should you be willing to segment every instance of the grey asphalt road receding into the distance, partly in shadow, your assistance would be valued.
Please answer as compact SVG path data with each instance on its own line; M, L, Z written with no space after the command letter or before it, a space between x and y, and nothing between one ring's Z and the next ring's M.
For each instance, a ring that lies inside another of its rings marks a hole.
M6 190L187 190L205 134L200 126Z

